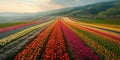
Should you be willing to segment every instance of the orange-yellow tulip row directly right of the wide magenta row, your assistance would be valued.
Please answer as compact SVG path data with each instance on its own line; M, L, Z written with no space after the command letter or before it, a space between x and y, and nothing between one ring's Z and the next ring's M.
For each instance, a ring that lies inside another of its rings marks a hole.
M78 32L77 30L70 27L67 23L65 23L66 26L68 26L74 33L76 33L86 44L90 47L92 47L96 53L99 53L100 55L104 56L105 60L113 59L117 60L120 59L120 56L115 54L114 52L106 49L99 43L95 42L94 40L88 38L86 35L82 34L81 32Z

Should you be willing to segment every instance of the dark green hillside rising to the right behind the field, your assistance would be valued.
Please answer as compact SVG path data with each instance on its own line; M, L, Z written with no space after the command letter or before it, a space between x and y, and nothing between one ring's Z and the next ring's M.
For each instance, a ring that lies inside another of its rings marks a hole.
M50 16L65 15L72 17L120 18L120 1L109 1L51 11Z

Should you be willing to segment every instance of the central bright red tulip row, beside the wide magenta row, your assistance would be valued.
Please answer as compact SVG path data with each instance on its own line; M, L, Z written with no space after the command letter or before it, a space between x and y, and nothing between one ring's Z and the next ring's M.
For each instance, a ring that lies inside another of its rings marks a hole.
M59 18L58 18L59 20ZM66 51L62 30L59 21L53 29L42 55L43 60L70 60Z

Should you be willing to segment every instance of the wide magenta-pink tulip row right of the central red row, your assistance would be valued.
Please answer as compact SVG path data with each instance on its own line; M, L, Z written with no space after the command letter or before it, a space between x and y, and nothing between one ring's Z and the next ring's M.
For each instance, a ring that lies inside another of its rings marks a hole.
M79 39L68 27L61 22L64 35L70 46L73 57L77 60L101 60L94 52Z

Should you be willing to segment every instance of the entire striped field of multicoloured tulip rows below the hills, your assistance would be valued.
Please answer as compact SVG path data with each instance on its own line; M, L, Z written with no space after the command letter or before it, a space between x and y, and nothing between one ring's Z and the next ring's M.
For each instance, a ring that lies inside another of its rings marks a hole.
M3 27L0 60L120 60L120 28L63 16Z

